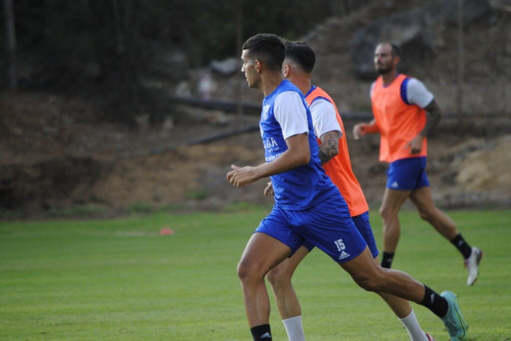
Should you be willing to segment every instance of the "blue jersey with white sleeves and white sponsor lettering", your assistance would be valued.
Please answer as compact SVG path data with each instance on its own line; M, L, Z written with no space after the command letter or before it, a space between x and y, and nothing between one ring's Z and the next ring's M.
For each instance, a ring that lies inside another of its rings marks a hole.
M266 162L275 160L288 149L287 138L308 133L309 164L270 176L278 207L291 211L308 209L339 193L321 167L311 113L296 86L284 80L264 98L259 124Z

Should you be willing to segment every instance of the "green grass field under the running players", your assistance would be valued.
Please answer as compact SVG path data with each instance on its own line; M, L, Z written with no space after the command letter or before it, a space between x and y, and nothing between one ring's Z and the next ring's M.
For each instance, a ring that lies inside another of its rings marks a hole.
M0 222L0 340L249 340L236 265L268 211ZM412 211L401 214L393 267L456 292L471 340L509 340L511 211L449 215L485 252L473 287L454 247ZM159 235L161 228L175 234ZM300 265L294 286L310 341L408 340L383 301L318 250ZM271 304L273 339L287 340ZM412 306L424 330L448 339L439 319Z

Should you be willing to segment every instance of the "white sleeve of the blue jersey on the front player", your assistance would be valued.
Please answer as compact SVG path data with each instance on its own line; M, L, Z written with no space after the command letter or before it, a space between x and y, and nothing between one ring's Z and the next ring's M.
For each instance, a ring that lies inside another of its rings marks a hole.
M287 139L293 135L309 133L307 110L300 95L285 91L275 98L273 114L282 127L282 135Z

